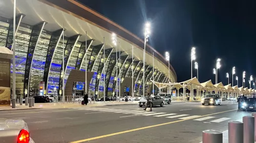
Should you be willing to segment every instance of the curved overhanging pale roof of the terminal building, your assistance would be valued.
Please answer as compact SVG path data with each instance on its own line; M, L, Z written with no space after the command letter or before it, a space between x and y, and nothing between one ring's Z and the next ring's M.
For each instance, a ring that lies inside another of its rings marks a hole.
M2 1L1 5L1 16L12 18L13 1ZM22 19L22 23L35 25L41 21L46 21L47 24L44 26L44 30L50 32L59 30L64 25L66 29L65 36L71 37L79 34L79 41L86 40L86 32L90 39L94 40L94 45L103 43L104 37L106 48L115 47L115 45L112 44L111 36L112 33L116 33L117 41L120 42L120 50L124 51L122 55L132 55L131 49L134 47L134 58L137 60L143 60L144 40L141 40L117 23L80 4L79 2L73 0L16 1L16 15L20 13L25 15ZM163 55L150 45L146 45L145 63L153 65L153 52L155 56L155 68L168 76L168 62L164 59ZM176 82L177 76L171 65L170 71L170 79L173 82Z

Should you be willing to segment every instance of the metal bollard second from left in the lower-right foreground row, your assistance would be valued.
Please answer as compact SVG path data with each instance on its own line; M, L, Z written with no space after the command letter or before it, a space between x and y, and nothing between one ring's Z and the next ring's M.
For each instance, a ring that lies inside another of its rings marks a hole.
M228 143L241 143L244 140L244 127L242 122L228 122Z

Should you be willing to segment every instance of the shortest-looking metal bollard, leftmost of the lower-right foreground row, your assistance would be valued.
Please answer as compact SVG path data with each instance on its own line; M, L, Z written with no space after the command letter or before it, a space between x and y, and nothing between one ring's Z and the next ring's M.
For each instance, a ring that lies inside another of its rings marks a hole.
M205 130L202 143L223 143L223 134L216 130Z

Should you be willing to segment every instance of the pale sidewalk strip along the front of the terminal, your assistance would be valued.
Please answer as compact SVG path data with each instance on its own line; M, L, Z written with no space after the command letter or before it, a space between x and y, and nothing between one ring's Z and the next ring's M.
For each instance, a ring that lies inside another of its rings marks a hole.
M173 101L172 103L179 103L184 101ZM171 103L171 104L172 104ZM81 105L81 103L35 103L35 106L29 107L23 105L16 104L15 108L12 108L12 106L0 106L0 111L3 110L25 110L25 109L56 109L56 108L76 108L76 107L95 107L95 106L114 106L114 105L136 105L138 104L138 101L107 101L107 102L92 102L88 103L87 105Z

